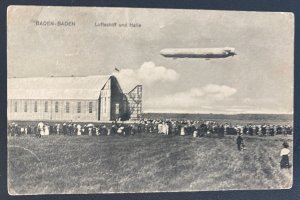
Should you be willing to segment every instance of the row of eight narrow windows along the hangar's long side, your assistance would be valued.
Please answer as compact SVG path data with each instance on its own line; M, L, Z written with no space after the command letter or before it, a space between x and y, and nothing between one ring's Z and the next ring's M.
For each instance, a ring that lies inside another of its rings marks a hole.
M48 101L45 101L44 105L44 111L48 112ZM27 101L24 102L24 112L27 112L28 110L28 104ZM34 112L37 112L38 110L38 103L37 101L34 102ZM59 110L59 102L55 102L54 104L54 110L56 113L58 113ZM70 113L70 102L66 102L66 113ZM14 103L14 111L18 112L18 102ZM81 113L81 102L77 102L77 113ZM93 102L89 102L89 113L93 113Z

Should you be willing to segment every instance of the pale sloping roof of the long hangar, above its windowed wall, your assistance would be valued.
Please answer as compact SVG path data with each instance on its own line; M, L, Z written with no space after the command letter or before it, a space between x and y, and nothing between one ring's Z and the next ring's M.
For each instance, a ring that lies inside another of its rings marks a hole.
M94 100L111 76L8 78L8 99Z

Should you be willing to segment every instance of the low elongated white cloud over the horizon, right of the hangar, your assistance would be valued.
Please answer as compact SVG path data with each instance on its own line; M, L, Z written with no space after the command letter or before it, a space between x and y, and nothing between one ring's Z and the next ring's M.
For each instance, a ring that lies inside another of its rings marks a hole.
M201 112L228 101L237 92L235 88L226 85L209 84L194 87L174 94L145 99L144 106L149 110L169 111L182 110L184 112ZM146 110L147 110L146 109Z

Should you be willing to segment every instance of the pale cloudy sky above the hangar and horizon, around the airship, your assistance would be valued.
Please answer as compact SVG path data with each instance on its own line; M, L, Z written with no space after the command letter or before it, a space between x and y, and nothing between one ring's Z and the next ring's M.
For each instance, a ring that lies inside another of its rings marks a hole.
M293 113L292 13L10 6L7 19L8 77L113 74L124 92L143 85L144 112ZM237 55L159 53L210 47Z

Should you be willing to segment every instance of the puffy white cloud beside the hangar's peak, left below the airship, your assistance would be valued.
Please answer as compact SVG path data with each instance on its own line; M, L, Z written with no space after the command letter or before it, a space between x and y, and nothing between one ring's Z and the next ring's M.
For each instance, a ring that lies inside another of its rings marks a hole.
M121 69L114 73L125 91L137 84L149 86L154 83L173 82L179 78L179 74L164 66L156 66L153 62L144 62L138 69Z

